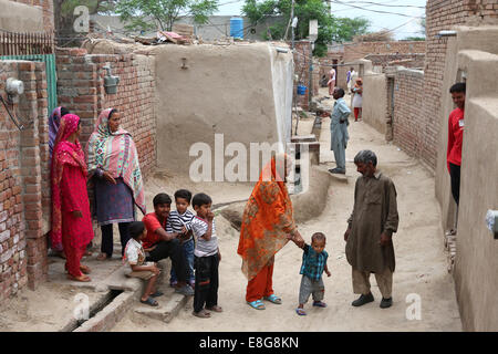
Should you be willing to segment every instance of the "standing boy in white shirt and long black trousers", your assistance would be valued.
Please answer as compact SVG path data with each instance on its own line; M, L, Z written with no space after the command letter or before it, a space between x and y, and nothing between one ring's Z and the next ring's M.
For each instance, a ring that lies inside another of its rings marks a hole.
M222 312L222 309L218 306L218 266L221 254L218 248L211 204L211 198L204 192L195 195L191 200L194 210L197 212L190 223L193 235L196 238L194 251L196 284L193 314L203 319L210 317L210 313L206 310Z

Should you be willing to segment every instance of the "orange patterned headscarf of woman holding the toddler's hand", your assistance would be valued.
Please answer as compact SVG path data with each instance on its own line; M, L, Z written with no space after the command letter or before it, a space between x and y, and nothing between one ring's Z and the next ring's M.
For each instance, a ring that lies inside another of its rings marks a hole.
M288 242L287 235L295 230L284 184L286 163L289 163L287 155L271 158L243 210L237 253L242 257L242 272L248 280L268 264Z

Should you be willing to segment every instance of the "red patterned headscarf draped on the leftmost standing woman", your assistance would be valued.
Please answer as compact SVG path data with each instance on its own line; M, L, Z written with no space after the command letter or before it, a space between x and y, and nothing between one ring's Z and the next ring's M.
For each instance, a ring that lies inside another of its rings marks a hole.
M68 142L71 134L77 131L80 117L66 114L60 121L59 132L54 140L52 155L51 184L52 184L52 248L62 250L62 198L61 179L65 165L80 167L83 176L86 176L85 155L80 142Z

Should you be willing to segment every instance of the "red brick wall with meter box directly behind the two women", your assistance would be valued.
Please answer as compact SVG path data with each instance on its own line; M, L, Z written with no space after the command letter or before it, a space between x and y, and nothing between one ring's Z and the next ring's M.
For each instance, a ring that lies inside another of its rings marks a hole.
M103 69L111 64L120 76L117 94L106 94ZM156 166L156 122L154 114L155 67L153 59L135 54L87 54L84 49L58 49L59 104L82 118L81 142L92 134L100 112L114 107L122 112L122 126L136 144L144 176Z

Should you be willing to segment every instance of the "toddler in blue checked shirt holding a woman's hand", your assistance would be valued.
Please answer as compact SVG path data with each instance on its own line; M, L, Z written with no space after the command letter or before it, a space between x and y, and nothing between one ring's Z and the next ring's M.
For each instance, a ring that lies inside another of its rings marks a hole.
M301 287L299 289L299 306L295 312L299 315L305 315L304 304L313 298L313 306L326 308L326 303L322 302L325 294L325 287L323 285L322 273L325 271L326 277L331 273L326 267L326 259L329 253L325 249L325 235L315 232L311 237L311 246L304 243L302 247L302 264L300 274L302 274Z

